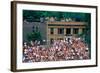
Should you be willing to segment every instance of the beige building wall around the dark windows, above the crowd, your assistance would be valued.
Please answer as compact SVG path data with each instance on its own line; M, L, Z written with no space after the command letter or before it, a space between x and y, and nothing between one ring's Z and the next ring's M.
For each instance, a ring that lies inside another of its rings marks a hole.
M54 34L50 34L50 28L54 28ZM64 28L64 34L58 34L57 29L58 28ZM82 29L85 28L85 26L47 26L47 40L50 42L50 39L57 40L58 38L63 38L65 39L65 34L66 34L66 28L71 28L71 34L73 34L73 28L79 28L78 34L82 33ZM73 34L75 35L75 34ZM77 34L76 34L77 35Z

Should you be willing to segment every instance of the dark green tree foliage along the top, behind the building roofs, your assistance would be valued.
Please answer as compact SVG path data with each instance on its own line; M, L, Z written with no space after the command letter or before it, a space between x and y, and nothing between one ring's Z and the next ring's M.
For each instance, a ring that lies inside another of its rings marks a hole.
M33 11L23 10L23 20L29 22L39 21L40 17L56 17L58 20L62 18L74 18L76 21L86 21L88 13L79 12L59 12L59 11Z

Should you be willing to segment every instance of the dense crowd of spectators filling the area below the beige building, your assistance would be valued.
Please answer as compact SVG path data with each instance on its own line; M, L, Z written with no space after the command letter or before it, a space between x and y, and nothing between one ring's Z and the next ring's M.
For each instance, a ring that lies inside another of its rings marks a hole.
M24 42L23 62L48 62L90 59L88 45L81 38L54 40L51 45Z

